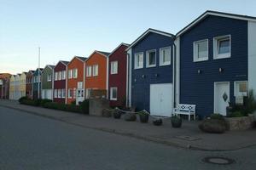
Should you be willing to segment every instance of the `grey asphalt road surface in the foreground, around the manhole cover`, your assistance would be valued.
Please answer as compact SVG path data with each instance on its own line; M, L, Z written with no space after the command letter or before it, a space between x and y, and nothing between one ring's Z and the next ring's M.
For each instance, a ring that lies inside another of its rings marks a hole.
M234 159L231 165L201 161ZM0 107L0 169L256 169L256 147L179 149Z

